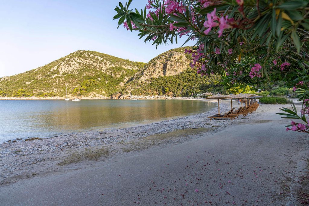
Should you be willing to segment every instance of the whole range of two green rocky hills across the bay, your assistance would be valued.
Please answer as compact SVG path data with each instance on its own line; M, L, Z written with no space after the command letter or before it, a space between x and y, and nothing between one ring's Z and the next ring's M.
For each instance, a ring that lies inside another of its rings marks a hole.
M42 67L0 79L2 97L121 95L184 96L220 90L218 77L190 69L185 48L169 50L147 64L93 51L76 51Z

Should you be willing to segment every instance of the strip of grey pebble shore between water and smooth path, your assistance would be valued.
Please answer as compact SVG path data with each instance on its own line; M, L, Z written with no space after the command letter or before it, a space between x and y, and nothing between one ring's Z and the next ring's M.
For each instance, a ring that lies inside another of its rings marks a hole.
M229 104L220 104L220 109L228 111ZM145 137L188 128L209 128L210 134L213 134L226 126L235 124L242 118L234 121L210 121L207 116L216 113L216 111L217 108L214 108L200 114L129 128L95 130L47 139L19 140L0 144L0 187L37 174L59 171L62 168L59 166L59 162L71 155L72 152L97 149L102 146L108 147L111 153L123 152L119 149L121 146L132 141L143 140Z

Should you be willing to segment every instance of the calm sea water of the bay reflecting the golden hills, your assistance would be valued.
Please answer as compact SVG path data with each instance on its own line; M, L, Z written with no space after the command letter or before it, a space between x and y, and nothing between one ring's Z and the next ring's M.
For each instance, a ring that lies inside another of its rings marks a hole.
M2 100L0 142L126 127L213 107L211 102L191 100Z

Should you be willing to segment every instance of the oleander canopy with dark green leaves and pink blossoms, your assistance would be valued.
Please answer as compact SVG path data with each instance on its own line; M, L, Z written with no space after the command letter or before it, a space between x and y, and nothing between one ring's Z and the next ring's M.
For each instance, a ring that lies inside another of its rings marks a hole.
M156 46L193 41L186 53L197 73L219 74L225 85L284 80L294 86L305 109L301 116L284 109L286 117L304 123L292 123L292 130L309 132L308 1L148 0L142 10L130 9L131 2L115 8L118 27Z

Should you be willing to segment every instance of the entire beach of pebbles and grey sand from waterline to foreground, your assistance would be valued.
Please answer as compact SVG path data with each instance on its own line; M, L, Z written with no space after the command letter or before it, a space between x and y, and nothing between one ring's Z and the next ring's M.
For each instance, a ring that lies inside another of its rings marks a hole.
M301 205L309 137L279 107L1 144L1 205Z

